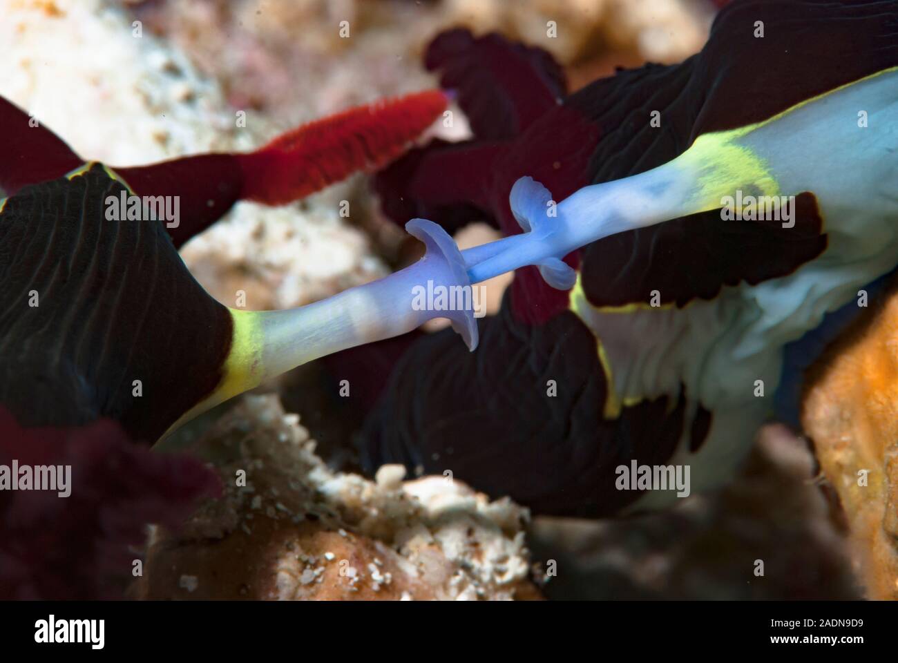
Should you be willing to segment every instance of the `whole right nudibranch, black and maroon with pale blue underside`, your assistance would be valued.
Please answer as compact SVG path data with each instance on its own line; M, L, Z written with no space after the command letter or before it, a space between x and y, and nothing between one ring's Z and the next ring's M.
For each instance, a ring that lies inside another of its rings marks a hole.
M585 517L672 501L621 485L634 466L725 482L898 264L896 34L894 1L737 1L682 64L571 94L539 49L438 36L427 66L474 138L375 188L398 220L497 225L462 252L472 283L517 272L475 354L409 340L365 463Z

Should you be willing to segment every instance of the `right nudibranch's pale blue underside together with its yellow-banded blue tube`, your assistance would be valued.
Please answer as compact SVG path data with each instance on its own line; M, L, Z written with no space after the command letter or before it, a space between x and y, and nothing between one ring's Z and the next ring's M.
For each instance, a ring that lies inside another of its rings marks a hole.
M718 422L700 454L684 446L672 462L691 465L696 489L716 486L741 458L738 450L750 445L751 431L772 414L758 396L777 390L784 346L817 327L824 314L853 304L858 288L898 262L896 119L893 67L753 126L702 135L667 164L585 187L558 203L541 184L522 178L510 206L524 233L463 252L469 277L479 282L535 264L551 287L567 290L579 274L562 259L586 244L718 209L720 224L739 214L788 230L796 227L797 199L813 196L827 249L784 278L726 288L711 302L693 300L679 309L648 301L596 306L582 287L572 293L572 310L593 330L608 381L605 417L617 419L625 404L679 389L692 394L692 408L714 412ZM840 155L837 169L832 155ZM773 207L782 201L781 218L764 209L770 199ZM748 216L732 207L736 200L760 201L762 208ZM664 292L665 283L657 290ZM640 329L652 324L669 334L666 342ZM678 347L686 330L691 345ZM651 341L640 348L633 339ZM679 367L659 368L665 362ZM647 493L639 506L669 498Z

